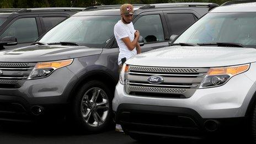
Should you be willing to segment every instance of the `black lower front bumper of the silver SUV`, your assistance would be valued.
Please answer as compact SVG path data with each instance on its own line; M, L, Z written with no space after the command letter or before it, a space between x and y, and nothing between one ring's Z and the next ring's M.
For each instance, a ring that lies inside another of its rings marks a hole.
M127 134L203 139L209 135L230 134L243 129L245 118L202 119L188 108L121 104L116 121Z

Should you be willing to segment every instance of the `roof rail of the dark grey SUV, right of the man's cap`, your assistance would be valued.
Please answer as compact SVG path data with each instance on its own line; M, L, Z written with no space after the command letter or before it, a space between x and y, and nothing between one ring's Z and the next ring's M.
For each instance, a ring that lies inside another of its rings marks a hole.
M159 4L147 4L139 9L151 9L151 8L164 8L164 7L209 7L209 10L212 8L218 7L216 3L159 3Z

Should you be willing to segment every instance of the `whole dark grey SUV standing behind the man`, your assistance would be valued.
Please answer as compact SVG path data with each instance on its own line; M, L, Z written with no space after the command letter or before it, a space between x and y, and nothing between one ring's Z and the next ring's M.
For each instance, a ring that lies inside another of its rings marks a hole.
M179 34L216 6L136 5L132 22L143 36L142 52L168 46L170 35ZM114 38L119 8L88 7L49 30L34 45L1 52L0 119L66 115L87 131L104 129L111 122L111 101L119 79L119 48Z

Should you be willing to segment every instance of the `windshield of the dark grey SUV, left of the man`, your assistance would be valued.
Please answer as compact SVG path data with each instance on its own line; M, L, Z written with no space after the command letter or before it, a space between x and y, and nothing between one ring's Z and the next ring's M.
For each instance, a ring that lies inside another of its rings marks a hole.
M119 15L71 17L48 31L39 41L47 44L73 42L88 47L104 47L114 35Z

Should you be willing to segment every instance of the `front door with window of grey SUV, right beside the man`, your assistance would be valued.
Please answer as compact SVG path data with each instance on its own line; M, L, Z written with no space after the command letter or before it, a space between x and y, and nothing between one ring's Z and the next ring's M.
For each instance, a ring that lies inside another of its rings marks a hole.
M141 46L142 52L168 46L169 33L162 11L141 13L133 23L143 36L145 45Z

